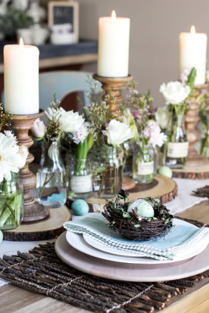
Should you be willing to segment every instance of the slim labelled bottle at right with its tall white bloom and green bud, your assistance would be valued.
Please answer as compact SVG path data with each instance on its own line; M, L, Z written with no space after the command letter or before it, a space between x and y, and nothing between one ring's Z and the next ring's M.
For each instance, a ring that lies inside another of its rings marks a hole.
M191 69L187 81L171 81L160 86L160 92L171 113L170 124L167 125L168 143L166 146L165 164L171 168L182 168L188 155L189 143L186 138L184 117L190 107L189 97L193 89L196 69Z

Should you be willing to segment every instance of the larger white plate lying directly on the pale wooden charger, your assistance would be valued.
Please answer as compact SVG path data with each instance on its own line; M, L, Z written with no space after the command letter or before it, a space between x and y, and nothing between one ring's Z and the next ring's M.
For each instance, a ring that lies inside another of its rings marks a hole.
M111 253L107 253L101 250L97 250L94 247L90 246L89 244L86 243L84 240L82 234L77 234L77 233L72 233L70 231L66 232L66 240L67 242L76 250L81 251L85 254L91 255L93 257L103 259L103 260L108 260L108 261L113 261L113 262L120 262L120 263L129 263L129 264L166 264L166 263L175 263L179 261L183 261L186 259L191 259L195 255L199 254L202 252L207 244L204 245L204 247L198 246L196 251L193 251L190 254L181 256L179 259L175 260L156 260L156 259L151 259L151 258L145 258L145 257L138 257L136 258L135 255L134 257L130 256L122 256L122 255L115 255ZM105 246L105 248L107 248ZM121 252L121 251L120 251Z

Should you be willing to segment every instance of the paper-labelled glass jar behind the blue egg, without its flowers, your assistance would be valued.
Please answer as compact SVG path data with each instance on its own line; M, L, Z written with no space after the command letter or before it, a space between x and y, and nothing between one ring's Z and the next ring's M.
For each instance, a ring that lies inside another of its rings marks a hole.
M92 191L90 160L67 156L66 172L69 179L67 197L71 200L90 198Z

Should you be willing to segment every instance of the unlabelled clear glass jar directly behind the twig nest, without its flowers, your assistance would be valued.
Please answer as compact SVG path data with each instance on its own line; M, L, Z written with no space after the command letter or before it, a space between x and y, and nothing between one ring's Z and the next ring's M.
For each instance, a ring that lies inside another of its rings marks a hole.
M100 151L95 151L91 172L93 195L98 198L116 197L123 179L121 148L103 146Z

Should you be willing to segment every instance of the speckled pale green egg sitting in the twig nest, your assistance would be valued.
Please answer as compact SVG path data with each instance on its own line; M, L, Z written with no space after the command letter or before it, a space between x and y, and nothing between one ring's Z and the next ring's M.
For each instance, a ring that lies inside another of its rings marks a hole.
M135 208L137 215L143 217L152 217L154 216L154 209L151 204L143 199L137 199L129 203L128 212L133 212L132 209Z

